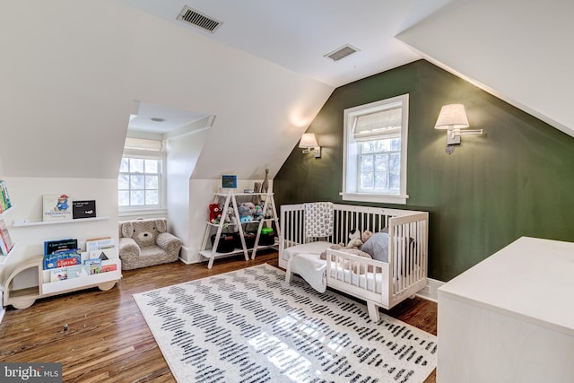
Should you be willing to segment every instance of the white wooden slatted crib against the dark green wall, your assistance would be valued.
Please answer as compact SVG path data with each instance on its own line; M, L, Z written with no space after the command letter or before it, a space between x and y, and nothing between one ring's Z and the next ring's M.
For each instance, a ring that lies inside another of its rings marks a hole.
M291 274L294 257L326 262L326 285L367 301L371 320L378 307L391 309L427 285L429 213L358 205L334 204L334 231L326 239L305 237L305 204L281 206L279 265ZM388 262L328 249L346 244L353 230L388 230ZM319 254L326 249L326 261ZM346 261L346 262L345 262Z

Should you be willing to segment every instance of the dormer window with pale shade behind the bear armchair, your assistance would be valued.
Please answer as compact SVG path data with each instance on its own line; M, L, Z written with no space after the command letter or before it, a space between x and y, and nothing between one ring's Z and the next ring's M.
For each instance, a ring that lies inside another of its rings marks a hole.
M120 209L160 208L163 179L162 143L126 138L124 157L117 178Z

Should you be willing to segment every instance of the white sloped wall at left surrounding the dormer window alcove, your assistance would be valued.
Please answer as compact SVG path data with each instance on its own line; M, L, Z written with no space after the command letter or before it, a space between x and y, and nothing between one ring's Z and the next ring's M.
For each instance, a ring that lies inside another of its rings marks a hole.
M0 35L9 177L117 177L135 100L216 116L194 178L273 177L333 91L114 0L4 2Z

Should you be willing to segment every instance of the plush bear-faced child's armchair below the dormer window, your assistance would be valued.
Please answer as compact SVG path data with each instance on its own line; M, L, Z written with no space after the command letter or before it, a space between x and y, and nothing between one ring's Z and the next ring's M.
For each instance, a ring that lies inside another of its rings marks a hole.
M175 262L181 239L168 232L165 218L119 222L119 257L122 270Z

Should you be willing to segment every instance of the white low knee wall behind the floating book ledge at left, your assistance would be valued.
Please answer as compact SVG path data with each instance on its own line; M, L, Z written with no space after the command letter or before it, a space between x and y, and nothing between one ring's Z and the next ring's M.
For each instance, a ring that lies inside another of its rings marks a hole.
M14 254L4 267L4 276L31 257L44 254L44 241L78 239L85 248L85 239L112 237L117 243L117 178L5 178L14 209L5 218L13 241ZM42 219L42 195L66 194L71 200L96 200L96 214L109 217L103 221L73 220L40 226L13 227L13 221ZM4 277L2 278L4 280Z

